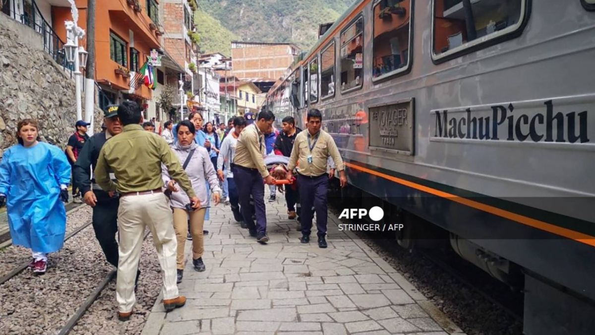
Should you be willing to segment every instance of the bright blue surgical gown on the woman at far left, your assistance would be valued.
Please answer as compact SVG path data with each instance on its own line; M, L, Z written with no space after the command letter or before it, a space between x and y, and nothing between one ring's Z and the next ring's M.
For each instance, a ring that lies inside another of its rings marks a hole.
M0 194L7 198L12 243L34 252L62 248L66 211L60 185L70 182L70 164L55 145L39 142L13 145L0 162Z

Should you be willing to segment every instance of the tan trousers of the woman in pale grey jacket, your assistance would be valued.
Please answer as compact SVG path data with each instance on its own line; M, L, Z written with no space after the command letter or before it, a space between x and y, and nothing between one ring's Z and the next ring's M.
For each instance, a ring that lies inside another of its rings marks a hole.
M174 208L174 230L178 240L178 253L176 257L177 268L184 269L184 246L188 234L188 216L190 214L190 235L192 235L192 259L201 258L205 252L205 240L202 228L205 225L206 208L193 210L188 213L185 209Z

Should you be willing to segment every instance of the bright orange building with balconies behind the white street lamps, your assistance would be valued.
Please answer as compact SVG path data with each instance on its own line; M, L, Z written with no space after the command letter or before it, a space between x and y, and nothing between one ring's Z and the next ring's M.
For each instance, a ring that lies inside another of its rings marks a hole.
M76 4L79 8L77 24L87 30L87 1L76 0ZM95 80L109 95L112 103L117 103L121 98L135 100L139 104L147 104L152 100L154 92L145 85L130 88L132 76L126 72L138 72L151 49L161 48L158 13L159 4L155 0L97 2ZM66 41L64 21L72 20L70 8L52 7L52 18L54 30ZM79 41L79 45L86 46L86 43L86 38ZM125 73L118 69L123 69Z

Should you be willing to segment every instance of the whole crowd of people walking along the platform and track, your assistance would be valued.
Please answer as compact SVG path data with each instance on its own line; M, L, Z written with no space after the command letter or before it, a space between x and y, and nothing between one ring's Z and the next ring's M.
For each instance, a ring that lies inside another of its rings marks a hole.
M192 240L193 268L205 271L203 240L208 232L203 227L211 201L214 206L230 204L240 227L266 244L264 185L270 185L269 200L275 201L279 179L284 179L287 217L299 221L300 241L309 243L315 213L318 246L325 248L328 182L335 170L340 185L347 182L339 150L321 130L318 110L308 111L305 131L296 128L293 117L285 117L277 131L274 120L271 111L263 110L217 128L211 122L203 125L202 114L195 111L177 125L165 122L158 135L153 122L144 122L139 105L124 101L106 108L99 134L89 138L89 124L77 122L65 153L40 141L35 120L22 120L18 144L4 152L0 163L0 206L7 206L13 243L31 249L30 267L44 273L48 253L64 243L61 202L68 201L67 187L72 185L73 198L93 207L96 238L117 268L122 321L133 313L145 228L151 231L164 274L165 310L184 305L186 298L177 289L186 263L184 246Z

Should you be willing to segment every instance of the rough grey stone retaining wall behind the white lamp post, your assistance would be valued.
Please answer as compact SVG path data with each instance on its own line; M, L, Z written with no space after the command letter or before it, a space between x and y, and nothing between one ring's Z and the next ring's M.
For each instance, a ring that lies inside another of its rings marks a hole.
M40 43L32 29L0 13L0 157L17 142L21 119L37 119L42 140L61 148L74 132L74 80ZM96 131L101 115L96 108Z

